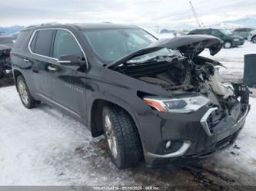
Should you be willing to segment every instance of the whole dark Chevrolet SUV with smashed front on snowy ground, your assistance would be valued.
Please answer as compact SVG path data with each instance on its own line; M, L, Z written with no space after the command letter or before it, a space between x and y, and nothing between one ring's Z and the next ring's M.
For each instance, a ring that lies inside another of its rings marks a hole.
M12 70L25 107L44 102L104 134L119 169L176 166L231 146L244 127L248 87L222 84L221 63L198 55L221 46L133 25L35 26L18 36Z

